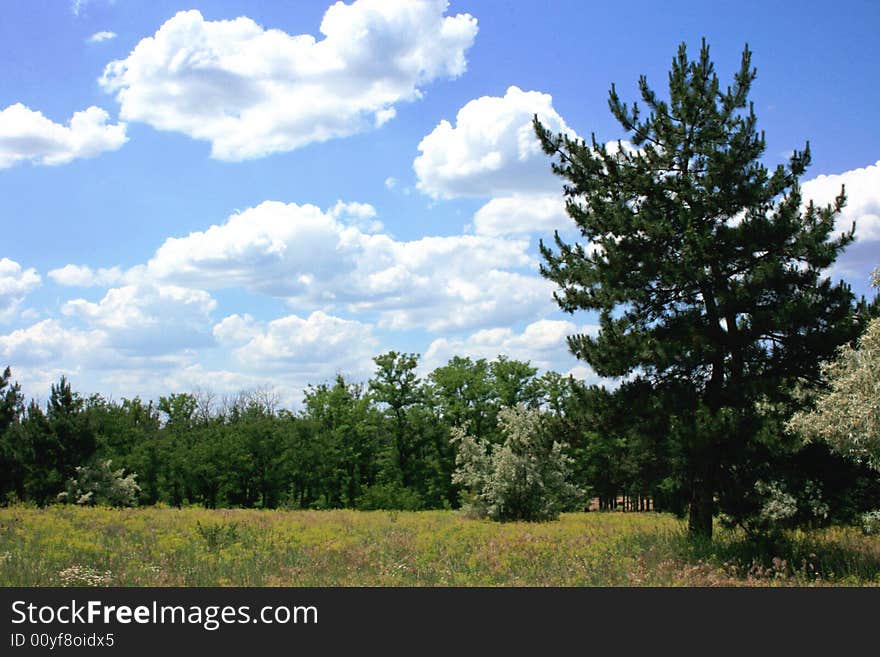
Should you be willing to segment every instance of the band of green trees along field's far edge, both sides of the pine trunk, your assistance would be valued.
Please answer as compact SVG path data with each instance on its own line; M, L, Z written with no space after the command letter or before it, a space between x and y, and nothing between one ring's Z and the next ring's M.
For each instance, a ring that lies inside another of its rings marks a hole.
M281 408L268 390L112 400L80 394L65 377L51 386L45 404L26 404L7 368L0 377L0 495L7 503L38 505L458 508L488 499L469 489L477 461L466 462L461 445L480 445L481 463L487 449L510 463L505 426L520 422L540 424L522 439L540 434L544 441L537 467L564 458L566 477L557 486L581 493L553 498L553 512L583 510L591 498L610 509L622 497L634 508L641 501L644 509L645 500L657 511L688 508L687 461L669 440L675 430L664 412L669 400L641 380L608 390L553 371L539 375L528 362L503 356L454 357L423 378L415 354L391 351L374 361L366 382L339 375L309 386L297 411ZM505 419L505 409L531 414ZM784 481L783 490L797 491L798 499L812 490L827 507L821 517L805 508L792 520L851 519L880 494L876 473L823 444L763 457L759 473L768 481ZM111 484L129 477L136 494L108 497L106 487L82 493L84 480L101 476ZM749 486L725 491L730 499L739 496L737 521L758 517L766 505L753 484L754 477ZM520 506L544 509L552 495L538 497ZM491 508L488 515L505 519L498 504Z

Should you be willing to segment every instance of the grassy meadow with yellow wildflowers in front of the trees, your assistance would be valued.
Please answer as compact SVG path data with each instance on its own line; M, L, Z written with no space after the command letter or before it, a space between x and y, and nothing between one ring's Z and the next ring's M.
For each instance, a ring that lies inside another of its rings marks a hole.
M737 585L880 585L880 537L829 528L758 548L719 531L700 545L654 513L0 509L0 586Z

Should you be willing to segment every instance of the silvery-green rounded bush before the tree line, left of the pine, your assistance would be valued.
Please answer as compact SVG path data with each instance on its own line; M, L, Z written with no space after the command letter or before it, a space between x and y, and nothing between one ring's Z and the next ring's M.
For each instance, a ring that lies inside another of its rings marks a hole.
M498 415L504 442L490 444L453 429L456 470L465 510L493 520L554 520L573 508L583 491L569 481L565 446L546 435L540 411L505 408Z

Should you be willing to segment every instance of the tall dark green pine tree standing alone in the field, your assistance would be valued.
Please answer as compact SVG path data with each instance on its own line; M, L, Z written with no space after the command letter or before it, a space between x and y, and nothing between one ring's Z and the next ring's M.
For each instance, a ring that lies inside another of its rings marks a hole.
M814 379L856 325L850 289L821 273L853 239L832 236L843 191L804 207L809 143L787 166L761 163L755 75L746 47L722 88L705 42L695 60L682 44L668 100L639 80L647 115L611 87L632 147L554 135L534 120L587 240L542 243L542 274L563 310L600 312L599 334L570 336L569 347L598 374L635 374L669 401L692 535L711 536L717 493L743 485L744 461L760 454L752 447L771 438L756 407L787 412L794 382Z

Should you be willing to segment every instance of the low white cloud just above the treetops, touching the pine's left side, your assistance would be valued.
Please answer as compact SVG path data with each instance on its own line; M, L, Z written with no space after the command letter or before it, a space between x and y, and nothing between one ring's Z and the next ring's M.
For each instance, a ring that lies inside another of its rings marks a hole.
M425 352L426 371L445 365L453 356L494 360L499 355L529 361L542 370L570 371L577 360L568 351L565 338L575 333L595 335L598 327L581 326L566 320L542 319L525 327L522 333L511 328L477 331L465 338L439 338Z

